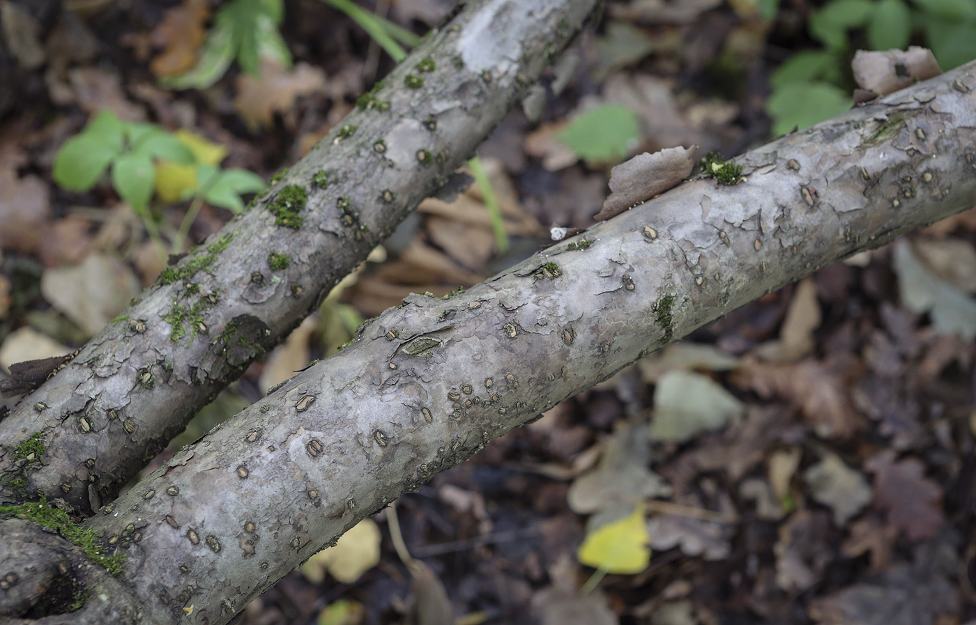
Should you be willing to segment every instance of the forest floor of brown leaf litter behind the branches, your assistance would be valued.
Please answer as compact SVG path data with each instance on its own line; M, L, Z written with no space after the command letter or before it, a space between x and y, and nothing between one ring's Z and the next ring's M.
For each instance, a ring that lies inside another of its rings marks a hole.
M163 267L109 184L79 193L52 177L59 147L90 116L184 129L224 146L222 167L266 179L393 65L343 13L289 0L281 34L293 66L264 59L254 76L234 63L211 87L167 89L197 59L216 7L74 4L82 17L33 33L29 12L3 14L26 33L0 54L18 94L0 98L4 367L77 348ZM408 293L472 286L549 245L550 226L590 225L614 163L560 141L581 111L630 108L627 155L696 143L700 156L734 156L768 140L774 70L818 46L806 35L815 7L783 4L763 19L745 0L611 0L544 78L538 116L511 112L478 150L508 251L476 187L451 205L426 201L165 454ZM367 8L423 34L453 3L388 5ZM850 83L849 70L836 73ZM172 243L191 202L163 195L150 210ZM769 293L402 497L404 542L432 576L412 582L384 511L380 531L344 539L345 560L314 558L241 622L434 623L425 605L442 584L467 625L976 623L974 211ZM204 203L189 239L232 216ZM580 593L594 572L578 560L584 538L635 509L648 566Z

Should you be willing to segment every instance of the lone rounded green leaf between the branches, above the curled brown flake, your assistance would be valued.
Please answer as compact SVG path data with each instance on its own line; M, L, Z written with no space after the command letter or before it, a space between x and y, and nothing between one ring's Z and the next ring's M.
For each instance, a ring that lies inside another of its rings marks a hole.
M590 163L622 160L639 137L636 114L621 104L587 109L559 134L560 141Z

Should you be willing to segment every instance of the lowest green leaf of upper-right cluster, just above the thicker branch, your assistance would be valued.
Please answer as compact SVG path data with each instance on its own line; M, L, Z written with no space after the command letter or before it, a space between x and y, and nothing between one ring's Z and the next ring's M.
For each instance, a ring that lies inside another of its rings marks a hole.
M848 110L852 98L827 83L789 83L766 100L766 112L773 118L773 135L785 135L813 126Z

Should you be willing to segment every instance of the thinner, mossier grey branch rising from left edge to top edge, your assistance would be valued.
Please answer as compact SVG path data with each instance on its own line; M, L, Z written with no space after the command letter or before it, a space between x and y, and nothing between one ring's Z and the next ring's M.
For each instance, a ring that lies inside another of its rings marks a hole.
M253 210L183 258L181 279L149 288L0 422L0 503L44 493L87 516L114 497L446 182L595 3L479 0L431 33L366 110L350 113ZM292 185L307 193L301 227L267 210ZM272 270L271 252L291 265ZM14 450L37 432L48 453L21 470Z

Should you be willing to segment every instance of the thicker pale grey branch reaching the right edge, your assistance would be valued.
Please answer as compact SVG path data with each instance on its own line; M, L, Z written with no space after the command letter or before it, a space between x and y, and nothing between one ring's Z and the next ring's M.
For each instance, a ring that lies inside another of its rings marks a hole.
M142 622L227 622L491 438L764 293L972 206L974 90L969 63L748 152L738 185L690 180L466 293L387 310L87 522L129 554L119 592ZM70 622L94 622L88 609Z

